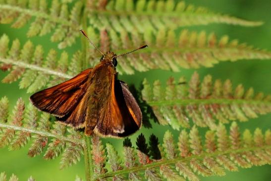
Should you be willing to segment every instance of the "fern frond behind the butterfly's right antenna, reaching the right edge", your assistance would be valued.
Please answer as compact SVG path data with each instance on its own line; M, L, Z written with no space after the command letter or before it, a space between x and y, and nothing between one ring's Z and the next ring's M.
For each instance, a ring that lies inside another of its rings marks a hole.
M120 74L157 68L180 71L182 68L212 67L226 60L271 59L270 52L239 44L237 40L229 41L226 35L217 40L214 33L208 35L205 31L197 33L183 30L180 34L164 29L144 33L102 31L98 34L92 27L88 28L89 36L95 37L95 44L104 52L112 50L119 55L140 45L148 45L146 49L118 58L120 63L117 70ZM93 50L88 55L93 63L98 62L101 57Z

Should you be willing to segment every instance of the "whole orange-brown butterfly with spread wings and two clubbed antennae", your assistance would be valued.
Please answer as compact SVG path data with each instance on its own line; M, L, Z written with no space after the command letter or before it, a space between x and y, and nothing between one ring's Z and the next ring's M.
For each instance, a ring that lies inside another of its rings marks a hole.
M95 47L86 33L80 31ZM136 50L145 47L147 45ZM30 100L41 111L53 114L58 121L74 128L85 128L86 135L128 136L141 127L142 113L128 86L117 79L116 57L125 54L117 56L109 51L104 55L95 48L103 56L94 68L37 92Z

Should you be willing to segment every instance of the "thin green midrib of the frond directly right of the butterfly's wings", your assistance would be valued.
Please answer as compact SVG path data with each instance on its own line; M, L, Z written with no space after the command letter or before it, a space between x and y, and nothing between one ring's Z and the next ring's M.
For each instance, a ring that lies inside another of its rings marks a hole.
M150 101L150 106L170 106L170 105L199 105L199 104L265 104L271 105L270 101L248 100L248 99L182 99L182 100L164 100Z

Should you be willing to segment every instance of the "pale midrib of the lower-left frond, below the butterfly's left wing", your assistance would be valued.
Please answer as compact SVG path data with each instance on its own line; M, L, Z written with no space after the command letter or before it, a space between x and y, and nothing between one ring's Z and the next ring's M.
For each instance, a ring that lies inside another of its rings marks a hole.
M20 126L15 126L15 125L8 125L8 124L3 124L3 123L0 123L0 127L4 127L4 128L7 128L7 129L18 130L18 131L25 131L25 132L35 133L35 134L39 134L39 135L47 136L47 137L54 137L54 138L57 138L57 139L62 140L62 141L68 141L68 142L71 142L71 143L74 143L74 144L77 144L77 145L79 144L82 147L84 145L83 140L69 138L69 137L65 137L65 136L62 136L62 135L59 135L59 134L54 134L54 133L51 133L51 132L40 131L40 130L36 130L36 129L20 127Z

